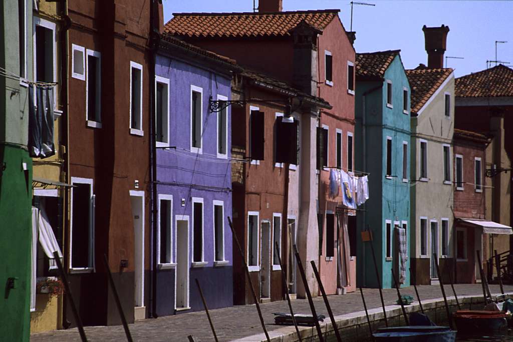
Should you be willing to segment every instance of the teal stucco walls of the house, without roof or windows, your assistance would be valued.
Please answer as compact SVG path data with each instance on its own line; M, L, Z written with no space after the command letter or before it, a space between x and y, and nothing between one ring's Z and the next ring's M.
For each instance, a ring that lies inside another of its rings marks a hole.
M386 81L392 82L392 108L386 104ZM356 167L369 175L369 195L364 209L357 214L358 238L360 232L370 228L373 232L373 246L376 252L378 271L383 288L393 286L391 269L397 258L392 237L392 258L386 258L385 220L407 224L407 240L410 233L410 194L409 182L403 182L403 142L410 140L410 116L403 113L403 88L409 83L399 56L396 56L384 74L384 81L358 82L356 88ZM371 91L373 90L373 91ZM363 94L365 113L363 112ZM408 104L409 108L409 104ZM365 115L365 127L363 126ZM365 131L365 132L364 132ZM365 136L365 138L364 138ZM387 137L392 138L392 176L386 177ZM365 139L365 150L363 148ZM365 165L364 165L365 164ZM409 163L407 163L409 174ZM377 287L376 273L369 243L357 245L357 284L364 287ZM409 250L409 247L408 247ZM409 268L409 259L406 268ZM409 286L409 272L403 286Z

